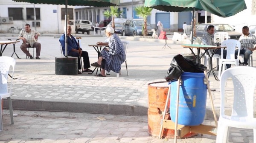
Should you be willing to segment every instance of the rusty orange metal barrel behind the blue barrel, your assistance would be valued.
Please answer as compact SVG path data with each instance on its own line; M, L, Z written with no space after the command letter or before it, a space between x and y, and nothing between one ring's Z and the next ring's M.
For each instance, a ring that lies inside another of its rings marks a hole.
M169 90L168 82L153 82L148 84L148 134L158 137L161 127L162 112L166 104L167 94ZM165 119L171 119L169 114L170 101L168 101ZM163 129L163 138L174 138L174 129ZM183 137L188 138L198 135L197 133L188 133Z

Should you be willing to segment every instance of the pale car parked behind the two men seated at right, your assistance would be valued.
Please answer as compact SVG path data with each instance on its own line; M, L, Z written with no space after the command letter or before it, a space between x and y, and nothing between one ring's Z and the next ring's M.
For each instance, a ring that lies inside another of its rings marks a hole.
M207 23L207 24L200 24L196 28L196 34L197 37L203 37L204 34L207 32L207 28L209 25L214 26L214 32L227 32L229 38L228 39L236 39L238 40L239 37L242 35L242 33L236 32L230 25L228 24L213 24L213 23ZM212 34L212 38L214 38L214 34Z

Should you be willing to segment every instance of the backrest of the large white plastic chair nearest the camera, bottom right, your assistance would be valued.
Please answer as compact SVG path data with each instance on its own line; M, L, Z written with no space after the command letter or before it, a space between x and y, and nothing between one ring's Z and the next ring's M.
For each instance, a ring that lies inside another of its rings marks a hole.
M256 87L255 67L232 67L221 74L221 115L225 115L225 87L233 81L232 115L235 118L253 118L254 90ZM230 90L230 89L229 89Z

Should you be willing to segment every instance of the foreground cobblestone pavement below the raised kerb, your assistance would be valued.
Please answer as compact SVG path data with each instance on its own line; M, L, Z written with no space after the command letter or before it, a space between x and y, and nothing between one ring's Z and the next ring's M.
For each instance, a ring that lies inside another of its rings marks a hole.
M11 125L7 113L4 110L0 143L174 143L148 135L146 116L15 110ZM215 139L199 134L177 143L215 143ZM231 128L228 143L253 143L253 131Z

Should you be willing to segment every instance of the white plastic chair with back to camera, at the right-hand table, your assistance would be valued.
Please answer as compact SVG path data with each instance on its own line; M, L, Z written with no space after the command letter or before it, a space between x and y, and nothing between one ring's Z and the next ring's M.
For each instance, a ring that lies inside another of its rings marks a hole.
M218 78L221 77L221 66L222 72L225 70L226 64L235 64L235 66L239 66L239 59L235 59L235 50L238 48L237 57L239 57L241 43L238 40L229 39L225 40L221 43L221 46L226 46L227 48L227 56L226 59L223 59L223 48L221 48L221 59L219 59L219 69L218 69Z

